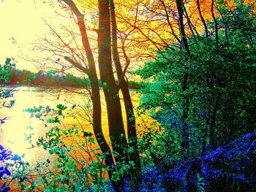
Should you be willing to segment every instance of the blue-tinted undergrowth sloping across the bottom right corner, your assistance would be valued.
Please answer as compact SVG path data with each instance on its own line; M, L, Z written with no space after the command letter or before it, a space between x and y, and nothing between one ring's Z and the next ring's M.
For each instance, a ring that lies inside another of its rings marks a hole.
M176 161L173 169L144 168L143 191L255 191L256 134L246 134L207 155Z

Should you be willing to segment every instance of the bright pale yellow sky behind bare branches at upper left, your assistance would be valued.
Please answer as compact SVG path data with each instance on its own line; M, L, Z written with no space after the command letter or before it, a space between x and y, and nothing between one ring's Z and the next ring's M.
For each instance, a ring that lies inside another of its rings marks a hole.
M47 3L44 3L44 1ZM58 32L61 31L61 24L67 27L72 26L73 30L78 30L74 20L69 18L69 12L60 9L57 1L54 2L56 2L55 7L49 5L48 0L0 0L1 64L4 63L7 57L10 57L18 61L18 69L27 69L32 72L38 71L35 63L23 60L22 58L38 58L38 53L36 54L31 50L31 44L37 43L37 45L39 45L39 37L46 35L48 39L54 38L53 34L50 34L50 29L43 19L47 20L48 24ZM61 12L62 15L66 15L67 18L56 14L56 11ZM94 12L93 14L96 13ZM89 26L89 23L92 22L91 15L88 15L86 19L88 20L88 25L86 26ZM94 27L95 26L90 26L90 28ZM96 34L95 31L88 32L90 37L94 37L93 35ZM94 39L97 38L94 37ZM93 42L91 42L91 45L95 48ZM43 54L44 53L39 53L39 56ZM49 53L45 55L45 57L46 56L49 56ZM53 65L56 64L53 63ZM52 63L50 63L50 66L52 66ZM69 70L68 72L80 75L80 72L75 69Z

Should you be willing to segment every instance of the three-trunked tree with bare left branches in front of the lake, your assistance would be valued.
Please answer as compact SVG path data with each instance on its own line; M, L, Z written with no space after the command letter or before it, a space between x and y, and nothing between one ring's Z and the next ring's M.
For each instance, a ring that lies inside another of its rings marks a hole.
M97 46L98 46L98 63L99 63L99 76L100 82L102 83L105 102L107 104L108 110L108 127L110 131L110 141L113 147L112 155L110 150L110 146L105 140L102 132L102 120L101 120L101 101L99 95L99 78L96 70L96 63L94 59L93 49L91 48L91 42L89 42L88 29L86 28L86 23L84 20L84 15L80 12L80 5L75 4L74 1L64 0L60 1L63 7L68 7L72 12L72 18L75 18L76 23L79 28L79 32L69 31L70 39L72 39L72 43L66 42L66 40L61 37L53 28L50 29L53 34L59 39L59 43L51 42L48 39L45 39L46 42L50 43L52 47L54 47L53 52L56 53L59 57L64 57L69 64L71 64L78 71L83 72L89 77L90 87L88 89L93 108L93 123L92 126L94 128L94 134L96 136L99 147L102 150L102 153L105 154L105 164L108 167L108 175L116 190L120 188L123 184L122 181L116 182L113 180L112 176L114 172L118 172L118 166L122 166L123 163L135 164L135 166L131 166L132 170L136 172L136 177L138 176L138 172L140 170L140 157L138 154L138 146L137 146L137 136L135 129L135 117L132 109L132 101L129 96L129 89L127 85L127 81L125 80L125 73L127 71L127 67L129 66L129 61L126 58L127 66L123 70L121 69L120 61L117 61L116 55L117 52L113 51L113 60L116 62L116 71L118 73L118 85L116 84L116 80L114 77L113 66L112 66L112 53L111 53L111 38L112 40L115 38L115 27L112 28L111 37L111 28L110 23L112 21L112 26L115 25L114 21L115 15L112 11L110 18L110 2L109 1L99 1L98 9L99 9L99 29L95 29L98 34L97 38ZM113 2L112 2L113 3ZM113 6L113 4L112 4ZM67 29L67 28L66 28ZM78 37L75 39L75 37ZM78 42L81 40L81 44ZM113 46L116 47L115 40L112 41ZM63 46L64 45L64 46ZM80 47L82 45L82 47ZM44 45L43 45L44 46ZM45 47L45 49L49 50L49 47ZM64 51L66 49L67 51ZM113 48L115 49L115 48ZM117 49L117 47L116 47ZM63 64L62 62L59 62ZM127 127L128 127L128 139L129 145L127 142L127 137L124 131L124 122L121 113L121 102L118 96L119 89L124 95L124 104L127 112ZM131 147L132 150L129 154L127 153L128 147ZM115 166L115 164L117 166ZM124 176L121 175L121 180L124 177L130 177L128 173L125 173Z

